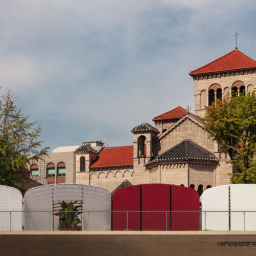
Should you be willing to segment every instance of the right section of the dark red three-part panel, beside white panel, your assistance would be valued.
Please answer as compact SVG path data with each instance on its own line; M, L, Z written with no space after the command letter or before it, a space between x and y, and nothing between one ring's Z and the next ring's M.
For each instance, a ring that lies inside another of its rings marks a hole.
M172 186L172 230L199 230L199 195L195 189Z

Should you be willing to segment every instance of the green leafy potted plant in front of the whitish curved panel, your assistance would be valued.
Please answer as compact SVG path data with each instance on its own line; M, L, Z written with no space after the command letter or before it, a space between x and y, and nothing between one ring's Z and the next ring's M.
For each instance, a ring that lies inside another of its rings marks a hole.
M62 203L59 203L61 206L61 209L55 214L56 216L59 216L59 230L77 230L78 224L81 223L81 221L78 218L78 215L81 214L81 211L79 211L80 205L76 205L78 201L75 202L68 202L62 201Z

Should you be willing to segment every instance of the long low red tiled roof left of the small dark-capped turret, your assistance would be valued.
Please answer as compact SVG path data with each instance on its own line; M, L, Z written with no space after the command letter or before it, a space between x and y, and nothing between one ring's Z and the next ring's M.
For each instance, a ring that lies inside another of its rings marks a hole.
M90 168L133 165L133 146L105 147Z

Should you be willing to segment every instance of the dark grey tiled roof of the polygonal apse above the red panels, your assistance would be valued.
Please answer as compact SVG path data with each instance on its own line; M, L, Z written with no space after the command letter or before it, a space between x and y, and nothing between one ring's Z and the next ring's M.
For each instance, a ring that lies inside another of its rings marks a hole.
M193 141L185 139L181 143L157 156L153 161L148 162L146 165L160 161L177 160L218 161L214 154L205 150Z

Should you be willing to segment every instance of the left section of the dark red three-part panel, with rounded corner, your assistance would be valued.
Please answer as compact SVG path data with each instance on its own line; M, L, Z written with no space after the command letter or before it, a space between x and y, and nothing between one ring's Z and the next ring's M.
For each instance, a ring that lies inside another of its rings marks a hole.
M113 230L127 230L127 210L140 211L140 186L118 189L113 195ZM140 230L140 212L128 213L128 229Z

